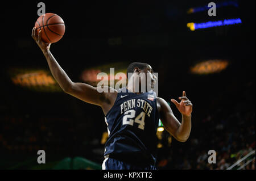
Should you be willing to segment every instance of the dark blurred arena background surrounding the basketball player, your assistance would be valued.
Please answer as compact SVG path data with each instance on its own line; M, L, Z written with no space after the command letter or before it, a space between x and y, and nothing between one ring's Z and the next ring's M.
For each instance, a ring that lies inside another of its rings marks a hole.
M208 3L216 3L216 16ZM38 3L1 8L0 169L101 169L104 113L65 94L31 37ZM185 90L192 130L178 142L159 121L158 170L255 170L255 1L45 1L65 34L51 52L73 82L126 73L134 61L159 74L170 101ZM46 163L37 162L38 150ZM216 152L216 163L209 163Z

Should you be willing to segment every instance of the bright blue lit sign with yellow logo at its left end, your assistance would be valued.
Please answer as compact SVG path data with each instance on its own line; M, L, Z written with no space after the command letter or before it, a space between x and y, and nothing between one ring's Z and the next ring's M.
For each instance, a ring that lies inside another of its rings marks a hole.
M232 24L241 24L242 20L240 18L237 19L224 19L224 20L218 20L218 21L209 21L204 23L187 23L187 27L191 31L195 31L198 29L205 29L205 28L212 28L212 27L219 27L219 26L228 26Z

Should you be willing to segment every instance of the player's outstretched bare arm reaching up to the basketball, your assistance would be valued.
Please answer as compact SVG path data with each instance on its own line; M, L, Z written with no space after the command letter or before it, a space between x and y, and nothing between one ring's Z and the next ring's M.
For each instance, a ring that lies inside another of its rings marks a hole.
M53 77L57 83L59 83L64 92L67 92L67 94L75 96L86 103L101 106L105 114L110 110L117 95L116 91L114 93L111 93L110 91L109 93L100 93L97 91L96 87L90 86L86 83L72 82L50 52L49 49L51 44L44 43L41 40L41 31L37 33L36 28L33 28L32 38L44 53ZM109 87L109 89L112 88Z

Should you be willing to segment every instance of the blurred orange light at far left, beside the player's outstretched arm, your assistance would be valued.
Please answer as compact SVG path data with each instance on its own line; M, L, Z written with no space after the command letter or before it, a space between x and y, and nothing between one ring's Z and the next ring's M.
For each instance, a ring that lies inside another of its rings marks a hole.
M11 81L16 86L35 91L61 91L48 70L12 68L9 71Z

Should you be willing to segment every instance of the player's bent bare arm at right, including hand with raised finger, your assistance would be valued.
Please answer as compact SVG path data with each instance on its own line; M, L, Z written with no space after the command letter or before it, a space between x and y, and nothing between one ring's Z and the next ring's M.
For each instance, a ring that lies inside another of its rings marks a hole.
M181 124L174 116L174 113L167 102L162 98L157 99L160 120L162 121L164 128L166 128L166 130L174 136L177 141L187 141L191 132L192 103L187 98L185 91L183 91L183 96L179 98L181 100L180 103L175 99L171 99L171 102L175 104L176 108L182 115Z

